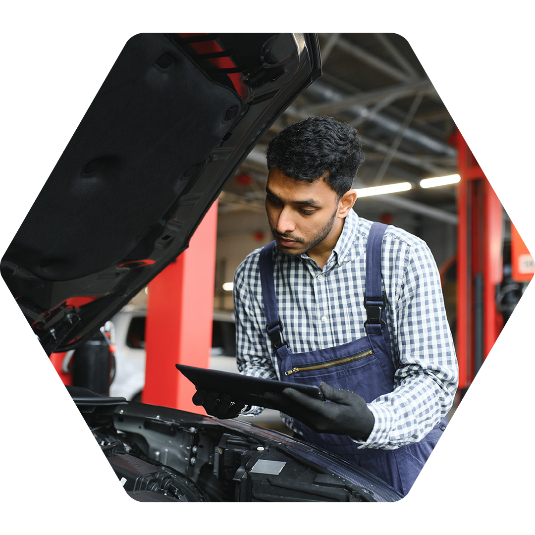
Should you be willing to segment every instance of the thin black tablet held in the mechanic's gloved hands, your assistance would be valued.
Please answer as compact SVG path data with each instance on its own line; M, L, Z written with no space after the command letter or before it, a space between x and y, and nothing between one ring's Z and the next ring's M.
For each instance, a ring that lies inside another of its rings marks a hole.
M286 383L272 379L259 379L257 377L247 377L240 373L231 373L219 370L205 370L204 368L194 368L184 364L175 364L197 390L215 390L221 394L228 394L235 400L241 400L246 405L255 405L268 409L278 409L268 400L264 399L264 394L281 394L285 388L295 388L304 394L324 401L323 394L318 386L300 385L296 383Z

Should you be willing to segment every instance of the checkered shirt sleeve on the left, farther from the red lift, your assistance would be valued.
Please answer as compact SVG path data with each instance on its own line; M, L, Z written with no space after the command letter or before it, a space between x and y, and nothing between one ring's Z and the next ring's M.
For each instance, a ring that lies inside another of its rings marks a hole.
M258 277L258 270L250 262L242 262L234 274L234 317L236 321L236 364L242 375L262 379L278 379L273 367L269 347L259 322L259 303L253 303L251 278ZM265 327L264 327L265 330ZM253 407L242 414L258 415L264 409Z

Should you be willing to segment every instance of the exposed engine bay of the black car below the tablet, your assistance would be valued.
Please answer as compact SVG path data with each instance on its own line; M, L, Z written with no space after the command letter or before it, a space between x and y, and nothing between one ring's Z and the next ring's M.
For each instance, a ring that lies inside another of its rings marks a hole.
M132 501L403 501L368 472L263 427L142 403L74 402Z

